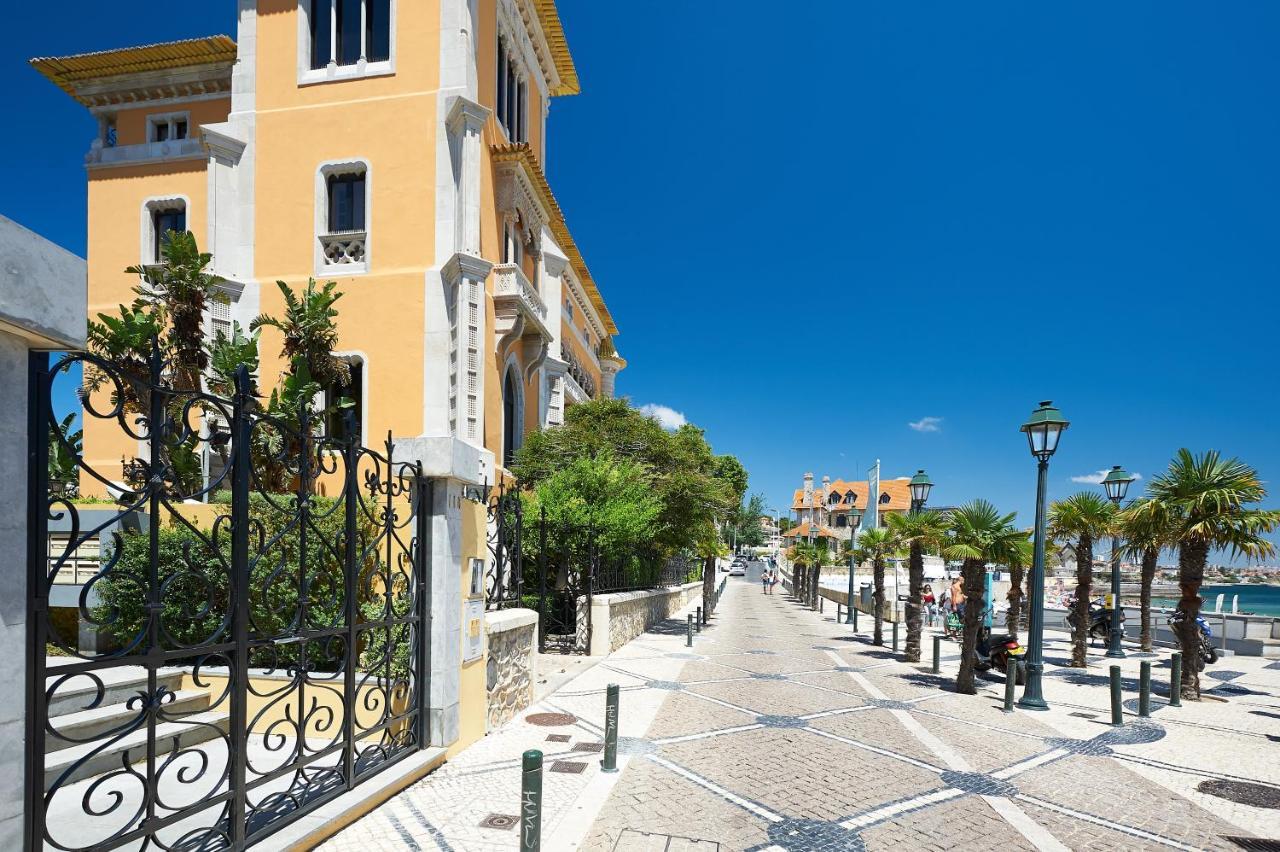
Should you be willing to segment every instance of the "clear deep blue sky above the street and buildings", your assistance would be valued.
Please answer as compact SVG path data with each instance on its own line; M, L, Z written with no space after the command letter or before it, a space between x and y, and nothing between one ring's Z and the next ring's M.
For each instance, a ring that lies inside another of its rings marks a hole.
M0 212L82 252L92 122L24 60L234 35L234 3L69 5L13 13ZM561 0L582 95L549 125L636 404L774 505L879 458L1029 525L1043 398L1051 496L1184 445L1280 478L1280 5L649 9Z

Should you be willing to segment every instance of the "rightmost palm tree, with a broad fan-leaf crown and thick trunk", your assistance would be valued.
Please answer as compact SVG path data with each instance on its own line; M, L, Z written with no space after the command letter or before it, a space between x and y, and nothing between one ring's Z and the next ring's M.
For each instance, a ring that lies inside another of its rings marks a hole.
M1178 450L1169 469L1152 478L1147 495L1151 499L1142 504L1139 514L1162 516L1169 525L1169 540L1178 546L1181 590L1178 640L1187 661L1181 696L1198 701L1199 628L1196 617L1199 615L1199 588L1210 550L1228 550L1233 558L1275 555L1275 545L1263 536L1280 526L1280 510L1249 508L1267 495L1258 472L1239 459L1224 459L1217 450L1199 455L1185 448Z

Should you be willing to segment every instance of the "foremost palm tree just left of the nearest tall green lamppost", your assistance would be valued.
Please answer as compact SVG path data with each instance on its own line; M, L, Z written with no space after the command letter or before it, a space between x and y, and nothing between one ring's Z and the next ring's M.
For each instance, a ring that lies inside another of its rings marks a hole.
M987 563L1009 564L1021 558L1027 533L1014 527L1014 513L1001 514L987 500L973 500L955 509L951 518L951 537L942 554L947 559L961 559L964 565L964 638L960 650L960 672L956 674L956 692L974 693L973 672L978 646L978 627L987 611L987 592L983 576Z

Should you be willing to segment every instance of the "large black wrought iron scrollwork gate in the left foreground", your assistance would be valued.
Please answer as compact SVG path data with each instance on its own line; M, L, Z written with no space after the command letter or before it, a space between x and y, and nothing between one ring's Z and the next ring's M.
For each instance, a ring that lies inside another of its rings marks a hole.
M264 411L243 367L229 397L175 375L32 361L32 849L242 849L429 742L420 467Z

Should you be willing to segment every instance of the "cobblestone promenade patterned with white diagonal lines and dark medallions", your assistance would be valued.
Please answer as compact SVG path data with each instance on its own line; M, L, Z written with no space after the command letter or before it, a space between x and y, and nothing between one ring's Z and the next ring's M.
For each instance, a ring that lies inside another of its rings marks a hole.
M1126 696L1152 659L1155 713L1138 719L1134 700L1112 728L1114 660L1050 665L1052 709L1006 715L1002 675L956 695L954 643L934 675L929 637L925 663L904 664L869 643L869 622L855 635L735 581L675 682L611 660L623 683L644 682L623 714L648 692L666 701L582 843L544 848L1238 849L1233 835L1280 837L1280 667L1228 658L1206 677L1210 698L1178 709L1165 706L1167 652L1132 654ZM1051 663L1066 656L1062 636L1047 647ZM1206 792L1233 783L1254 787L1235 788L1243 801Z

